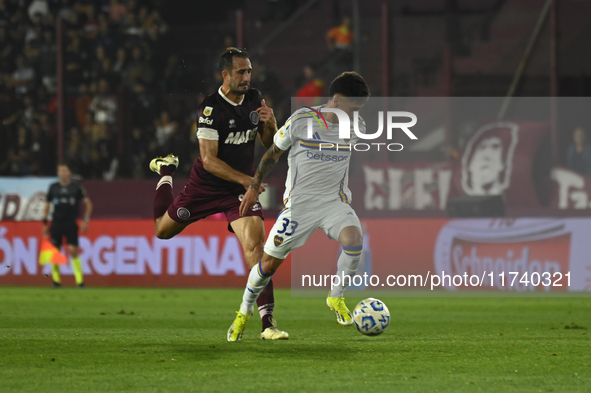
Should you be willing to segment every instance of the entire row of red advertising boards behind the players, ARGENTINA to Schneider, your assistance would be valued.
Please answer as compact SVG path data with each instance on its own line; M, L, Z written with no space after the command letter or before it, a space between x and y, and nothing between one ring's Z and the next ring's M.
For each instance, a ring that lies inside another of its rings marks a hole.
M265 221L267 231L272 224ZM353 282L358 289L591 290L590 218L363 219L362 226L357 275L368 278ZM51 285L50 266L38 263L40 240L39 223L0 223L0 285ZM155 238L151 220L94 220L80 248L89 286L243 288L248 274L225 220L196 223L169 240ZM275 285L330 288L339 253L318 230L281 266ZM73 286L70 265L60 269Z

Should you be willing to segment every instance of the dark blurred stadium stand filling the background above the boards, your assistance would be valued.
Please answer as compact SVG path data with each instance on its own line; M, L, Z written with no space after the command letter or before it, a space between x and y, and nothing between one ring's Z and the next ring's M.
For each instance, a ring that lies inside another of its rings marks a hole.
M199 154L195 109L221 83L220 51L230 45L250 51L256 63L252 86L262 90L282 122L290 97L303 84L305 66L313 66L325 86L336 76L325 34L346 15L354 16L356 64L373 96L504 96L544 5L543 0L189 3L2 1L0 176L51 176L57 160L64 159L83 179L145 179L149 160L173 151L182 163L177 176L186 177ZM557 4L560 96L591 94L589 14L589 2ZM54 63L58 17L63 19L63 133L57 125ZM546 21L516 96L551 95L550 38ZM565 164L571 126L558 133L555 165ZM453 161L450 150L458 151L470 137L454 132L421 151L379 160ZM262 154L260 147L257 153ZM279 187L282 173L277 170L271 179Z

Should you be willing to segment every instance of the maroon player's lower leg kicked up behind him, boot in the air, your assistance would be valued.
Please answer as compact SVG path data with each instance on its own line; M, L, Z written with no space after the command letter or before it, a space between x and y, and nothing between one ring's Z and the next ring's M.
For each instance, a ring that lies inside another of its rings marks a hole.
M188 223L174 221L168 215L167 209L174 201L172 194L172 177L179 165L178 157L169 154L166 157L156 157L150 162L150 169L160 175L154 195L154 228L156 237L170 239L185 229Z

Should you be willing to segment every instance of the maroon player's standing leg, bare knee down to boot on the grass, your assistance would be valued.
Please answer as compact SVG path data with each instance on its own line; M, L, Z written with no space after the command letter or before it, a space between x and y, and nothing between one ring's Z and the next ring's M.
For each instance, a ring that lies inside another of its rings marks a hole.
M258 216L242 217L232 221L232 229L242 245L244 256L248 266L252 269L263 257L263 245L265 243L265 227L263 220ZM275 296L273 281L269 279L267 285L256 299L259 314L262 321L261 338L264 340L286 340L289 334L277 329L277 323L273 318Z

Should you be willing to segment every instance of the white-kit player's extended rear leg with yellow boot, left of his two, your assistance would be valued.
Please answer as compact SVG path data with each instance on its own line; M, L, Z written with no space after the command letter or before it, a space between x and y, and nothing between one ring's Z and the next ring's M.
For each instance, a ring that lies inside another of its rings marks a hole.
M237 315L234 323L232 323L232 326L228 329L228 341L240 341L242 339L246 324L252 316L254 303L257 301L257 298L271 280L271 276L282 262L283 259L274 258L269 254L264 253L261 262L250 269L248 282L246 283L246 289L244 290L242 303L240 304L240 310L236 313ZM289 335L283 339L287 339L288 337ZM261 336L261 338L263 337Z

